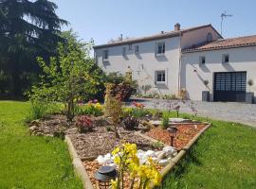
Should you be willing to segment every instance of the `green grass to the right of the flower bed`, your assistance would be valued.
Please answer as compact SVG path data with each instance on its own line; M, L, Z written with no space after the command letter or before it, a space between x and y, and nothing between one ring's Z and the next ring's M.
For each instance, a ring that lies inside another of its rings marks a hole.
M160 188L256 188L256 129L238 123L210 122L212 127Z

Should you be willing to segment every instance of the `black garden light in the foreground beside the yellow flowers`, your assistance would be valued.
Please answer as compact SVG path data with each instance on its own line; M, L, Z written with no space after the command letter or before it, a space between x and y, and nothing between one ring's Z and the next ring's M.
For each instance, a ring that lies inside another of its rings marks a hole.
M113 166L101 166L95 174L95 179L99 181L100 189L109 189L110 180L115 180L117 171Z

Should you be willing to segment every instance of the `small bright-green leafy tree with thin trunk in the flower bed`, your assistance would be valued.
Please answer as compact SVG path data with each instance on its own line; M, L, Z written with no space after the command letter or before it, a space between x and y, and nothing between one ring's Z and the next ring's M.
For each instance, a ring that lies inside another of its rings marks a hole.
M88 99L101 88L101 69L89 58L92 43L82 43L71 31L65 32L67 43L59 43L58 56L50 58L49 65L43 58L38 62L43 69L41 83L32 87L31 98L63 102L66 117L74 117L78 99Z

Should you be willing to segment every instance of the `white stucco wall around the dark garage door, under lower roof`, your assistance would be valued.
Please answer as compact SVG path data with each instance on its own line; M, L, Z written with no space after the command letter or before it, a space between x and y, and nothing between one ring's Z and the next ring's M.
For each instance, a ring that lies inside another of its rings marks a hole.
M229 54L229 63L222 63L223 54ZM200 56L206 57L205 65L199 66ZM247 80L254 81L250 92L256 94L256 46L182 54L181 87L187 90L187 97L192 100L201 100L202 91L210 91L210 100L213 100L213 73L236 71L247 71ZM209 80L209 89L203 80Z

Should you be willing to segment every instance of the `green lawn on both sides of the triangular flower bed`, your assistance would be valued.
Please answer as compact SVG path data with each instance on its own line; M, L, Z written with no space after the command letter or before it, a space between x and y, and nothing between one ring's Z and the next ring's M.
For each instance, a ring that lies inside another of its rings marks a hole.
M82 188L64 141L29 136L26 110L27 103L0 101L0 188ZM161 188L256 188L256 129L211 123Z

